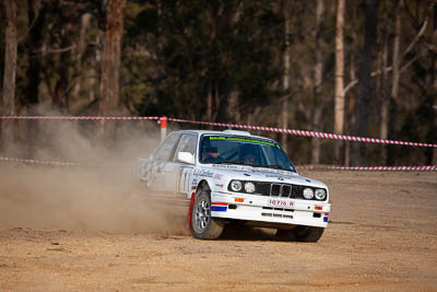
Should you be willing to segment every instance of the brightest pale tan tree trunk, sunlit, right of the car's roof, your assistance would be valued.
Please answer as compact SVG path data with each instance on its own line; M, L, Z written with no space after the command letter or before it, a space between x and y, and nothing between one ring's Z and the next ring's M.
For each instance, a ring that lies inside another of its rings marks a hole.
M334 132L344 131L344 0L336 1L336 27L335 27L335 97L334 97ZM335 141L334 161L341 163L341 148L343 142Z

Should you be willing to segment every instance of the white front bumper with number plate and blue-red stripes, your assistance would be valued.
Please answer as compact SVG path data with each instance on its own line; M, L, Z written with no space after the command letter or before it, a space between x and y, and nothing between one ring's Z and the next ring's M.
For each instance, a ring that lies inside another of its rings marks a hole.
M214 218L327 227L330 211L328 202L211 192Z

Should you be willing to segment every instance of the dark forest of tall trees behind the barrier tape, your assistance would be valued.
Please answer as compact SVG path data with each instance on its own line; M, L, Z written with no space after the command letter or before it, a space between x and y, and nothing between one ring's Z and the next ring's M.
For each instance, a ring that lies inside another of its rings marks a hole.
M437 143L436 0L0 7L3 115L166 115ZM32 145L42 127L1 124L5 154L11 142ZM94 125L84 124L91 138L122 131ZM257 133L279 140L296 164L437 164L433 148ZM32 157L32 147L22 154Z

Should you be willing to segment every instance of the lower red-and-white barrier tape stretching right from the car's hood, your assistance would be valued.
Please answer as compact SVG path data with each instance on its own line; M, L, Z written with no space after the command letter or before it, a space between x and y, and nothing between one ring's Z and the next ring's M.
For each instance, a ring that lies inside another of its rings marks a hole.
M436 172L437 165L428 166L328 166L328 165L302 165L297 170L314 171L375 171L375 172Z

